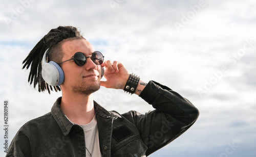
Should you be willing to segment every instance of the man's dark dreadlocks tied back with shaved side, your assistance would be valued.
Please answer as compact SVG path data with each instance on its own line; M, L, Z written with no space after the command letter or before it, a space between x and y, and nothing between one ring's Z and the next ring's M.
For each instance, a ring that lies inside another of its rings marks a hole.
M72 39L71 39L72 38ZM23 61L23 69L26 67L27 69L30 67L30 73L28 77L28 82L30 85L34 82L34 88L38 84L38 91L48 90L53 91L53 89L57 91L61 91L59 86L50 86L47 84L44 79L42 79L41 74L41 61L42 57L45 54L45 51L49 48L47 62L54 61L56 63L60 63L63 57L63 52L61 48L61 44L64 42L63 40L75 40L75 39L84 39L80 35L80 31L75 27L71 26L59 26L56 29L52 29L47 35L45 35L30 51L27 58Z

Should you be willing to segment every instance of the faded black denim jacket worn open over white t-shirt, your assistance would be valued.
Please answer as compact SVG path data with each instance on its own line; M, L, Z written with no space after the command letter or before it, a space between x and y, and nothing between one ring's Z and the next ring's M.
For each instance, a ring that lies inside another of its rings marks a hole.
M154 81L140 97L156 110L119 114L94 102L102 156L147 156L179 137L199 116L187 99ZM61 97L50 113L23 125L6 156L86 156L83 129L63 114L60 102Z

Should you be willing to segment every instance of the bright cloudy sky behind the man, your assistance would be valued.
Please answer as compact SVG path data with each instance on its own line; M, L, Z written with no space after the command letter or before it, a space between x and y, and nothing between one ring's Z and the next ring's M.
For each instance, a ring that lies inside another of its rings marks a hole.
M22 61L51 29L73 25L106 60L170 87L200 110L186 133L150 156L256 156L255 8L252 0L2 0L0 95L9 104L9 139L61 96L33 89ZM120 113L153 110L122 90L102 87L94 99Z

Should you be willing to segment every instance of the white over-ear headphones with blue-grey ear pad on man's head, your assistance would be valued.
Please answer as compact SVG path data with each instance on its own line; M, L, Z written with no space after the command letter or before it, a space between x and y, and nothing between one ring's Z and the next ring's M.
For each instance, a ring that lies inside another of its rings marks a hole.
M42 79L51 86L60 86L64 81L64 73L61 67L54 61L46 62L46 55L49 48L42 57ZM104 68L101 68L101 78L104 75Z

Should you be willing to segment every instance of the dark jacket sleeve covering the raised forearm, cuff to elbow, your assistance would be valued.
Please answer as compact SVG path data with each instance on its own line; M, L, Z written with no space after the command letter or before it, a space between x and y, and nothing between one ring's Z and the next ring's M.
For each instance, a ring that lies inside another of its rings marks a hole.
M176 117L183 122L186 121L187 124L193 123L199 115L199 111L190 101L156 82L149 82L140 97L152 104L158 111Z

